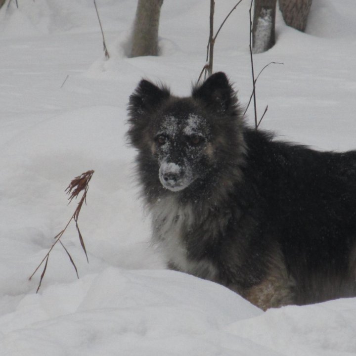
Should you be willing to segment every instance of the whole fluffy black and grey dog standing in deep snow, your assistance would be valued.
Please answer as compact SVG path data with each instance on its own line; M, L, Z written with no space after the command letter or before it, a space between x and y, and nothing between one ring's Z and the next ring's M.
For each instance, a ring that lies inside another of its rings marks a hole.
M356 151L249 128L223 73L190 97L142 80L129 125L168 267L263 310L356 295Z

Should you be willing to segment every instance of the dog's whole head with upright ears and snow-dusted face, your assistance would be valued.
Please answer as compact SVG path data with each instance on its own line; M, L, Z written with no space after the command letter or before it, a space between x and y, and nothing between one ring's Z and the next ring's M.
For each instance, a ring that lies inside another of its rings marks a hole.
M220 153L229 151L237 114L235 93L221 72L185 98L142 80L130 97L128 135L139 159L150 162L162 186L176 192L203 181Z

